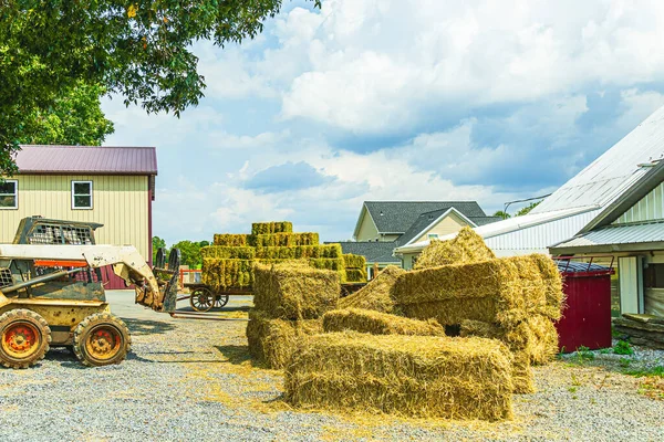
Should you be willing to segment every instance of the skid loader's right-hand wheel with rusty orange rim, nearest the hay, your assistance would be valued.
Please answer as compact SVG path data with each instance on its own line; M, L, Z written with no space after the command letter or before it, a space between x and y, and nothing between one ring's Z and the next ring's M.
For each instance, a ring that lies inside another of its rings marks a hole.
M74 355L89 367L120 364L132 349L125 323L110 313L95 313L74 329Z

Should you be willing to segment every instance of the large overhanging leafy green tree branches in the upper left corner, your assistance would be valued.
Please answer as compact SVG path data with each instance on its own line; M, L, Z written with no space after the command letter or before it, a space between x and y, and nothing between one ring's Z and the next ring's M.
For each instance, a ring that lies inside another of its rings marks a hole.
M0 175L15 172L12 154L35 136L30 116L50 115L63 92L81 83L148 113L179 116L205 88L193 43L253 38L281 3L0 0Z

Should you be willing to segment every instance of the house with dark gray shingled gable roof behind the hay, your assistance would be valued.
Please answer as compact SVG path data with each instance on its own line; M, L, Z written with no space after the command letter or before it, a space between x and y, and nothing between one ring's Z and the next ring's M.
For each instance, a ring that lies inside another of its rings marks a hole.
M498 220L488 217L476 201L365 201L355 224L355 241L341 242L341 246L343 253L366 257L371 278L374 265L411 267L408 257L402 261L393 255L397 246Z

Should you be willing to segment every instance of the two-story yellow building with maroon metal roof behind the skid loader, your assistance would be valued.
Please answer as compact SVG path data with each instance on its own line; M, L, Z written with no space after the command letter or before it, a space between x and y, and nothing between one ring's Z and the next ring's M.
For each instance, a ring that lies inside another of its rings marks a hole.
M104 224L97 243L131 244L152 260L154 147L30 145L15 161L19 172L0 185L0 242L13 241L21 219L41 215Z

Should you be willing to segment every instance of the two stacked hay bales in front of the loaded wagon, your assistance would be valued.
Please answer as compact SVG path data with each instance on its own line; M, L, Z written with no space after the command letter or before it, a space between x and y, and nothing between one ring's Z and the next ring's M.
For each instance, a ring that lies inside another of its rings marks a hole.
M253 274L249 352L269 368L281 369L300 337L322 333L320 317L336 308L339 301L339 273L291 261L256 264Z

